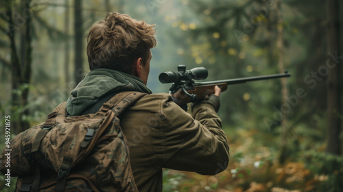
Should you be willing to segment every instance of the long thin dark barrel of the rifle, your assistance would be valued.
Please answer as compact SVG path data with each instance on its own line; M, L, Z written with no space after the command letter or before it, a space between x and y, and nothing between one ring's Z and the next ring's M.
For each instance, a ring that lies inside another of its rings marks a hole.
M287 73L280 73L280 74L273 74L273 75L260 75L255 77L244 77L244 78L236 78L236 79L230 79L230 80L217 80L217 81L211 81L211 82L196 82L194 86L204 86L204 85L210 85L210 84L244 84L246 82L252 82L252 81L259 81L259 80L269 80L269 79L275 79L275 78L282 78L282 77L290 77L291 75Z

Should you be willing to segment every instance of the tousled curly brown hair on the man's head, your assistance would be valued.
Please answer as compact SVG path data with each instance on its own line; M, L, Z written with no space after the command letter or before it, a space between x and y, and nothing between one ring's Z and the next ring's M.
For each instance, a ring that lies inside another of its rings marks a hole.
M87 36L89 69L107 68L133 73L134 60L143 64L156 46L154 25L137 21L127 14L108 13L94 23Z

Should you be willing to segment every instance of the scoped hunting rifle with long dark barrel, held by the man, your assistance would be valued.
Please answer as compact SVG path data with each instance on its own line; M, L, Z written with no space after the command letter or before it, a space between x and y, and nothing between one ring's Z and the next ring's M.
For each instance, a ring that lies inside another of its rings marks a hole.
M236 78L230 80L217 80L211 82L194 82L194 80L204 80L208 75L208 71L204 67L196 67L189 71L186 71L186 66L183 64L178 65L178 71L167 71L161 73L158 79L161 83L173 83L169 88L169 93L173 94L176 91L182 89L182 92L190 97L191 102L195 103L198 98L202 98L206 95L214 93L214 86L219 86L222 91L226 91L230 84L243 84L246 82L269 80L281 77L290 77L291 75L285 71L285 73L272 74L272 75L260 75L255 77Z

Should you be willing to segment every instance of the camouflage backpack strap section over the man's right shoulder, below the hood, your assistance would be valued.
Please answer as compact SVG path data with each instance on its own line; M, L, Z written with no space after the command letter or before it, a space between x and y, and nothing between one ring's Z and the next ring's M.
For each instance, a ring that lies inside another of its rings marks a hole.
M119 116L123 110L134 104L135 101L141 99L147 93L134 92L134 91L124 91L117 93L115 96L111 97L106 101L102 107L99 109L98 113L104 114L108 110L113 110L115 116Z

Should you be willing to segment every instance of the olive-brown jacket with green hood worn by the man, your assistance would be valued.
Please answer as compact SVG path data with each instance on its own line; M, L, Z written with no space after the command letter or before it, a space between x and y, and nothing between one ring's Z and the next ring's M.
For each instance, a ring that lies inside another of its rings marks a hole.
M99 90L102 95L117 91L118 87L113 81L118 78L118 74L113 75L115 73L118 71L110 69L88 73L72 91L67 102L67 112L81 115L89 103L95 104L101 99ZM190 115L174 103L169 94L150 94L150 89L141 87L141 84L140 89L132 90L134 86L129 85L137 84L137 79L131 80L131 75L122 73L119 76L124 79L120 82L120 91L148 93L119 116L130 147L132 171L139 191L162 191L163 168L195 171L205 175L214 175L226 169L229 148L222 121L215 112L219 107L217 96L211 95L209 100L193 106ZM101 82L102 89L98 88L100 85L97 82ZM110 90L104 91L106 88ZM88 101L82 101L87 98ZM83 103L87 106L82 106Z

